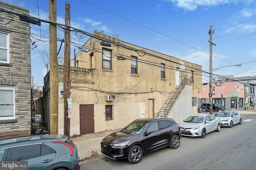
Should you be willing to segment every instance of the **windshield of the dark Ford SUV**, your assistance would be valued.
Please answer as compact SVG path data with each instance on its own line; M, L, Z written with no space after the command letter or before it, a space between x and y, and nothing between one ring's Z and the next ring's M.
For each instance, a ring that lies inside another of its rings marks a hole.
M143 131L143 129L145 129L145 127L147 127L147 125L148 121L133 121L124 127L124 129L122 129L120 132L138 135Z

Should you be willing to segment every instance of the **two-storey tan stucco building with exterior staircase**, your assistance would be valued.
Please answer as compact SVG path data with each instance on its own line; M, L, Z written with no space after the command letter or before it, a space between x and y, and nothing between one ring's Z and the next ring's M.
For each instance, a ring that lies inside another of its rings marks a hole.
M60 66L59 134L64 131L63 70ZM181 83L184 86L164 116L181 122L197 114L201 70L198 64L95 31L71 67L70 136L120 129L134 119L163 116L161 110Z

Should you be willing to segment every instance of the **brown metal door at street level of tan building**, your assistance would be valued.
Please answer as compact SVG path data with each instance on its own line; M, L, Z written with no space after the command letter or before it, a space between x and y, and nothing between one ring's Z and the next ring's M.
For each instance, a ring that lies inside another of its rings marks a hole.
M80 135L94 133L94 105L80 105Z

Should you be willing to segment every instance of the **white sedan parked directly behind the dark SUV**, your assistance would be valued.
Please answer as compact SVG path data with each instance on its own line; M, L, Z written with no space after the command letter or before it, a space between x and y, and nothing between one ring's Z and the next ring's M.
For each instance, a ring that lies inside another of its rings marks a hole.
M220 119L214 115L192 115L180 124L182 136L202 137L212 131L220 131Z

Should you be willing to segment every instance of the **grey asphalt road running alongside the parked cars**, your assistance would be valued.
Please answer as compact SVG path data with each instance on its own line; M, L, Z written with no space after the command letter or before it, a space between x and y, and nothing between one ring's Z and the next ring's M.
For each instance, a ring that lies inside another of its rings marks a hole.
M256 115L241 116L241 125L205 138L182 137L178 149L145 154L138 164L100 155L82 162L81 170L256 170Z

